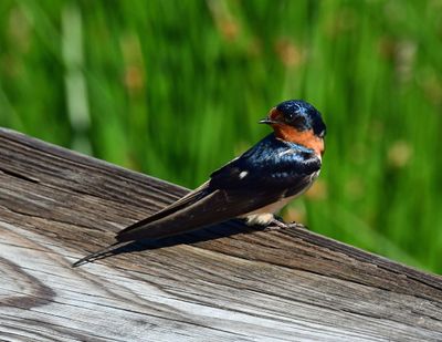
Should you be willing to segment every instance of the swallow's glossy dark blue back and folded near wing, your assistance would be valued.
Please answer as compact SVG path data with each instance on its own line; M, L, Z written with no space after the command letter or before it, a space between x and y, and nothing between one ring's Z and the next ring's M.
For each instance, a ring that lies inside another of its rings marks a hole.
M299 147L301 148L301 147ZM320 159L267 136L211 179L161 211L118 232L117 241L162 238L251 213L293 196L312 183Z

